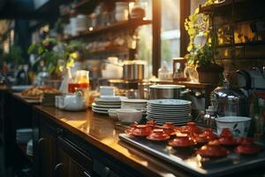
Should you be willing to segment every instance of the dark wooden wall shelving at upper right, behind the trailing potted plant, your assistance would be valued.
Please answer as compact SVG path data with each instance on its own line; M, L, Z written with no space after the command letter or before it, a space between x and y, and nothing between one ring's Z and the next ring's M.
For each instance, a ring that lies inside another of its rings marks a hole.
M217 46L221 55L216 56L216 61L225 63L228 71L229 68L249 69L253 65L265 64L265 52L262 50L265 47L265 29L255 29L257 21L264 23L264 5L264 1L225 0L220 4L199 7L199 12L213 18L216 30L228 30L224 33L224 41L230 40ZM242 60L246 65L240 64Z

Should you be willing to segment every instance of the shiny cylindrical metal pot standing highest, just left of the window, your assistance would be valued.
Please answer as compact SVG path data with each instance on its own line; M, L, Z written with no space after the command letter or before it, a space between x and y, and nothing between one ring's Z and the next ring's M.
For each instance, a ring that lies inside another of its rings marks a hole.
M139 81L145 76L145 62L142 60L126 60L124 62L124 80Z

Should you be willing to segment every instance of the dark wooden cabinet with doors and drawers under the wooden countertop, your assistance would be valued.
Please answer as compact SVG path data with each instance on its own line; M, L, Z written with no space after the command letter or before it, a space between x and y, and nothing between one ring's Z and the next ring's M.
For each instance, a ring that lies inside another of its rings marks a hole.
M34 109L34 176L136 177L140 172Z

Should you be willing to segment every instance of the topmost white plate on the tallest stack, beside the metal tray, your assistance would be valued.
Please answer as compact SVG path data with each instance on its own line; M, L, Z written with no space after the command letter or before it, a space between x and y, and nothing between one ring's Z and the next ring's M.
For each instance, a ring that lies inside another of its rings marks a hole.
M154 105L168 105L168 106L176 106L176 105L190 105L192 102L181 100L181 99L155 99L149 100L148 104Z

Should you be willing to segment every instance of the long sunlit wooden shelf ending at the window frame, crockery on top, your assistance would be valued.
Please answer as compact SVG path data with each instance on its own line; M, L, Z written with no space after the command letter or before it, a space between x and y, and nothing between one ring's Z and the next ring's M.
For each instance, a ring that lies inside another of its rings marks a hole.
M95 35L101 35L103 33L109 32L109 31L118 31L120 29L124 28L136 28L143 25L151 24L152 20L145 20L145 19L129 19L126 21L117 22L113 25L106 26L106 27L95 27L92 31L88 31L87 33L83 33L81 35L76 35L72 37L64 38L64 41L70 41L74 39L81 39L81 38L87 38L90 36Z

